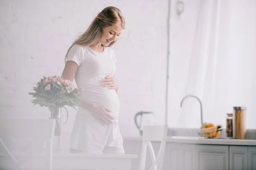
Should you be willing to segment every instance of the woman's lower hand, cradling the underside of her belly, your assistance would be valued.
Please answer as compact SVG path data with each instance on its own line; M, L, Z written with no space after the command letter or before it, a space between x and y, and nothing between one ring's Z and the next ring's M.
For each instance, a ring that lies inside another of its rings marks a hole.
M111 125L113 123L113 116L109 113L111 111L103 105L93 105L91 115L99 119L102 123Z

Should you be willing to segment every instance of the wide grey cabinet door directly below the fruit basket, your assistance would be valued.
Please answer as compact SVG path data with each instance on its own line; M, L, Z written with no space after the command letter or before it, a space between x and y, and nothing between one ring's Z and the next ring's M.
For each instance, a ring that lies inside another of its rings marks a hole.
M229 148L225 145L196 145L197 170L228 170Z

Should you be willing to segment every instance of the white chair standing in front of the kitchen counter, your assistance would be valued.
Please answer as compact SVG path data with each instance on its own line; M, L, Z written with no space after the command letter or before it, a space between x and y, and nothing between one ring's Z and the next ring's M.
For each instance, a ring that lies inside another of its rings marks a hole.
M147 148L150 152L152 166L149 170L162 170L163 169L163 157L165 153L165 145L167 139L167 125L163 126L143 126L143 143L140 155L139 170L145 170ZM160 149L155 156L151 141L159 141Z

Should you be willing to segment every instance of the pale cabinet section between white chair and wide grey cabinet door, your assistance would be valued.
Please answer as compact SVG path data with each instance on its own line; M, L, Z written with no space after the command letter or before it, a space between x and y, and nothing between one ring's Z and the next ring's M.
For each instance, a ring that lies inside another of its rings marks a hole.
M167 145L168 170L195 170L195 144Z

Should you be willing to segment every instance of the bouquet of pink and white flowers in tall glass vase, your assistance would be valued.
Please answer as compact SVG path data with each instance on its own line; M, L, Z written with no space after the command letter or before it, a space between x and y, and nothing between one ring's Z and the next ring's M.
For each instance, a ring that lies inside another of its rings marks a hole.
M49 76L37 82L33 90L34 92L29 93L35 98L32 100L32 103L34 103L34 105L40 105L41 107L48 107L49 119L55 119L56 121L55 140L57 140L57 142L54 142L56 145L54 150L58 151L60 149L61 136L61 108L66 109L64 107L65 105L73 108L79 106L82 99L80 89L75 88L70 80L63 79L59 76Z

